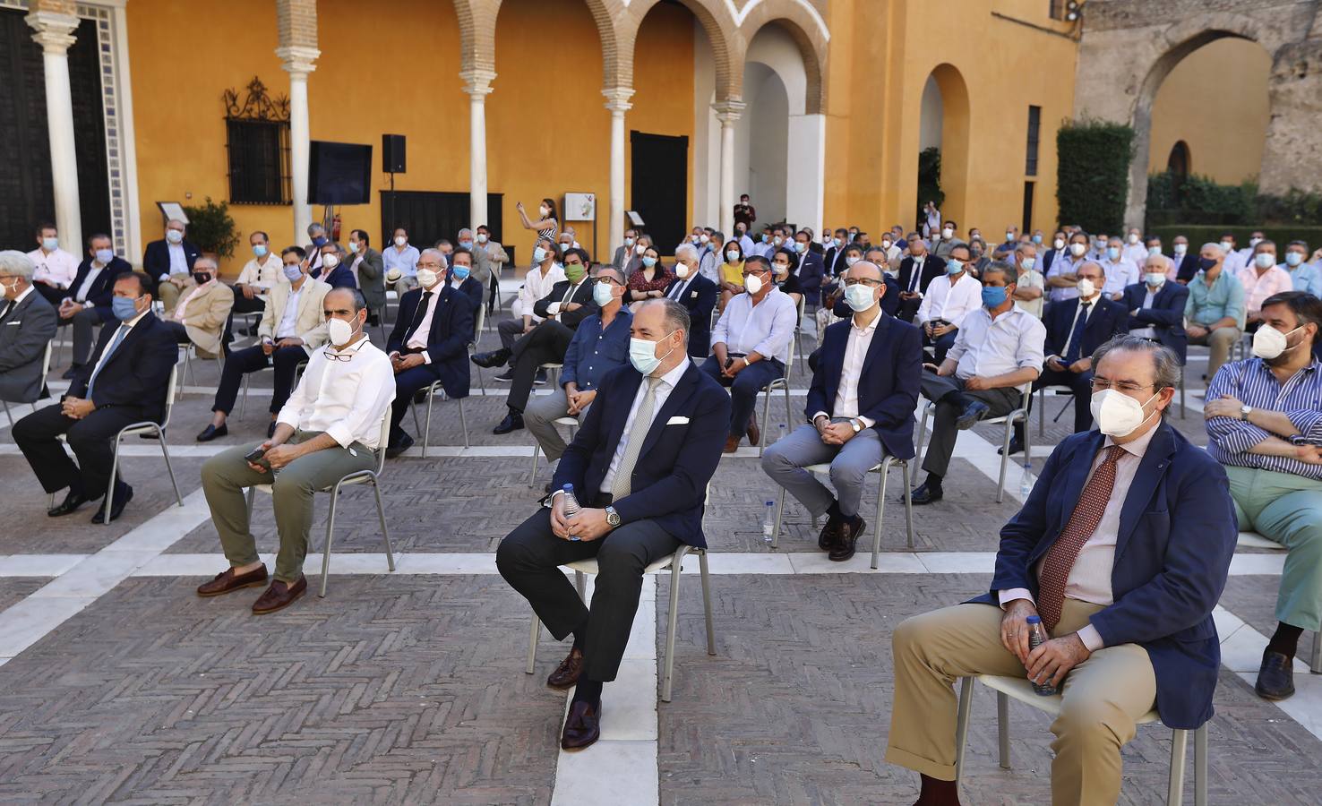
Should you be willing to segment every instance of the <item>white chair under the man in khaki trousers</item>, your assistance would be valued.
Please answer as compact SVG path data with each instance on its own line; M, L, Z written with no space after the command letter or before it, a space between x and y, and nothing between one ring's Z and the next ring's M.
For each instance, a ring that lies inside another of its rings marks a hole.
M1042 696L1032 690L1032 683L1027 678L1007 678L997 675L978 675L977 678L962 678L960 680L960 711L956 727L956 756L954 780L956 785L964 774L964 749L969 737L969 711L973 706L973 680L993 688L997 695L997 729L999 739L1001 768L1010 769L1010 699L1031 706L1038 711L1051 715L1060 714L1060 695ZM1155 710L1149 711L1138 719L1138 724L1161 721ZM1178 806L1185 799L1185 756L1188 744L1188 731L1175 728L1171 731L1170 747L1170 777L1166 782L1167 806ZM1207 724L1204 723L1194 731L1194 803L1206 806L1207 803Z

